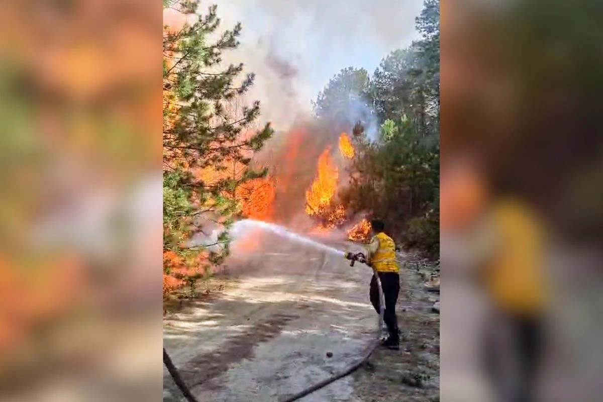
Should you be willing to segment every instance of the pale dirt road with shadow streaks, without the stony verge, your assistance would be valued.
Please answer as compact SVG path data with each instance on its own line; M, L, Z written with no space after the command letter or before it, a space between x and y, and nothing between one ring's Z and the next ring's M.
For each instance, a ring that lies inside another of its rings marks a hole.
M233 264L230 286L213 300L165 319L164 346L200 401L280 400L346 369L376 336L369 268L279 239L269 243L270 250ZM368 400L361 382L349 376L302 401ZM399 398L390 396L380 401ZM181 400L166 370L163 400Z

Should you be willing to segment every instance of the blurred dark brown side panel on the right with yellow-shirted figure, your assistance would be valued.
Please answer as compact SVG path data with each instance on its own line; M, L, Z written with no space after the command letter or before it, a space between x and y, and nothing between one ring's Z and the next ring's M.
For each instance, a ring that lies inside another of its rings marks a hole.
M603 4L441 1L443 401L594 401Z

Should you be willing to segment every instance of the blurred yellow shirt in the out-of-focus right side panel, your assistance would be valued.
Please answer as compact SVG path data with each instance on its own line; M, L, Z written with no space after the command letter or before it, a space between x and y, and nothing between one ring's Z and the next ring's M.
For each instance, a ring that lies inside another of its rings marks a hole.
M494 303L507 313L532 315L545 307L543 233L529 210L505 200L494 208L496 252L485 271Z

